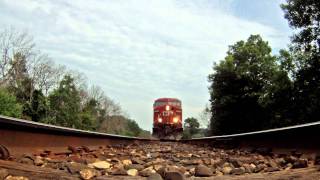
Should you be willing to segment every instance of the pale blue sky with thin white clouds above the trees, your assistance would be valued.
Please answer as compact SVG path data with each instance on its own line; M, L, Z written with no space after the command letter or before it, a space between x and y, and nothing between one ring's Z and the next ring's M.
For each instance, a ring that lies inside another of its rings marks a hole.
M130 118L152 128L152 104L209 102L208 74L228 46L260 34L273 54L292 30L281 0L0 0L0 30L28 31L55 63L84 73Z

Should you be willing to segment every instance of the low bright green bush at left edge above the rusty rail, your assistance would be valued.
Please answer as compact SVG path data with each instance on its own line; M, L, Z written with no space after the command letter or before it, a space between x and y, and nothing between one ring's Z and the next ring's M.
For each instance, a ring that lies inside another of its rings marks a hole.
M4 88L0 88L0 114L16 118L22 115L22 106L17 102L16 97Z

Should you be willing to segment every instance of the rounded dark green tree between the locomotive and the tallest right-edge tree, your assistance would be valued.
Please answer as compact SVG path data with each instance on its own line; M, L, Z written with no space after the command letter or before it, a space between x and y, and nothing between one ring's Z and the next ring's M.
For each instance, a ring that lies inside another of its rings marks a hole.
M271 127L276 87L288 80L276 61L268 42L259 35L229 47L225 59L214 65L214 73L209 75L212 134Z

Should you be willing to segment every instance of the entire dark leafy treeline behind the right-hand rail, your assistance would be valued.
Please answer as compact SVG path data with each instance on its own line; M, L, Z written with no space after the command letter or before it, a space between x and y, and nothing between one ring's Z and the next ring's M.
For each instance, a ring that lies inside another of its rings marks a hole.
M259 35L229 47L209 75L210 133L231 134L319 121L320 1L281 5L294 31L272 55Z

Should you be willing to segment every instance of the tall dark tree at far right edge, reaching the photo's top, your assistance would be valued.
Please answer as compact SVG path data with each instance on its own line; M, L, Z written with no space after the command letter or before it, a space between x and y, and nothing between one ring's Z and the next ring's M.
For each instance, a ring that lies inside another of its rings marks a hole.
M318 121L320 115L320 1L287 0L281 5L295 29L291 52L294 64L295 124Z

